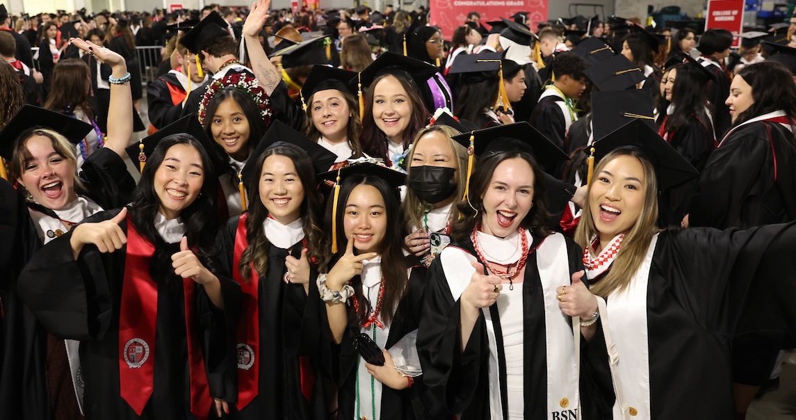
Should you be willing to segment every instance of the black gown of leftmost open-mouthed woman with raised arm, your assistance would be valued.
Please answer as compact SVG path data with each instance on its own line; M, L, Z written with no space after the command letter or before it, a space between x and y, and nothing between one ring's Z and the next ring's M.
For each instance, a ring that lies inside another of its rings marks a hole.
M127 204L135 189L135 181L119 155L108 149L96 150L81 166L80 179L84 181L91 198L102 208L115 208ZM28 305L18 293L18 276L25 264L41 248L41 239L25 207L24 199L14 191L2 192L2 203L10 206L18 202L14 244L4 251L0 259L10 259L10 270L2 270L0 301L2 301L2 365L0 365L0 418L25 418L49 420L51 418L48 371L45 363L47 332L33 317ZM56 216L54 212L37 204L27 204L38 212ZM4 206L5 207L5 206ZM10 212L3 211L3 218ZM10 252L10 254L6 254Z

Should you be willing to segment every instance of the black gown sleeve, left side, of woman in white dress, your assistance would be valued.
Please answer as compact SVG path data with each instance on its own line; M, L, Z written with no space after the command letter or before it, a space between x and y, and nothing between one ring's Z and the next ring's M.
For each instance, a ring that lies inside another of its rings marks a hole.
M417 352L423 367L423 383L450 413L462 413L482 399L476 392L488 392L482 371L489 358L486 319L483 313L473 326L470 340L462 352L459 315L460 302L451 297L441 259L428 270L423 318L417 333Z

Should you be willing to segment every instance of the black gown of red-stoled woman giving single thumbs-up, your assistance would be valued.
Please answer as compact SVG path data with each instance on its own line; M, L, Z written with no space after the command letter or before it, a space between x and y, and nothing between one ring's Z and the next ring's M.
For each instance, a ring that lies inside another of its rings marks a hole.
M238 220L232 217L219 232L220 275L232 280L233 251ZM268 246L268 268L257 282L259 319L259 392L255 399L238 411L230 404L231 418L279 418L302 420L326 418L326 395L321 380L322 366L320 348L325 323L326 306L321 301L316 286L318 272L310 270L310 291L304 287L283 281L287 273L285 258L288 254L299 258L303 244L296 243L289 250L274 245ZM242 319L240 322L246 322ZM326 334L328 336L328 334ZM326 348L328 349L328 345ZM312 400L302 395L301 366L299 357L309 356L315 377ZM233 367L234 368L234 367ZM232 375L234 390L237 379ZM234 399L238 395L235 393Z

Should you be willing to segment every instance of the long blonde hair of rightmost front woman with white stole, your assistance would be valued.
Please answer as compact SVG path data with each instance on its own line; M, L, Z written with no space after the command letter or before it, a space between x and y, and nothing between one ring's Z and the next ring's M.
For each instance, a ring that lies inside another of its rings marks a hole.
M591 187L594 185L595 180L599 179L599 173L606 165L620 156L632 156L641 163L644 172L644 201L638 220L630 227L630 231L627 231L625 238L622 239L622 247L619 248L611 270L608 271L602 281L595 283L591 287L592 294L605 298L615 291L621 292L627 286L630 286L638 267L644 261L647 249L650 247L650 241L659 231L657 228L657 179L655 177L655 169L650 161L638 150L619 149L603 157L595 168L595 176L591 179L591 184L588 185L586 192L586 207L583 208L583 216L580 217L580 223L575 231L575 242L583 248L591 247L591 237L599 235L599 231L595 227L594 215L591 214L591 204L589 203Z

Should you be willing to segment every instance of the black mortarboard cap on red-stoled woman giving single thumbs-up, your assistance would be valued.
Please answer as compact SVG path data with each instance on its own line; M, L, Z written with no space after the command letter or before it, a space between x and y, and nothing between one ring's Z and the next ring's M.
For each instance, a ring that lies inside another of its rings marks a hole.
M278 119L275 119L271 126L268 127L263 138L257 144L257 148L252 152L252 157L259 157L269 147L279 145L279 143L289 143L304 150L310 156L316 174L328 171L338 158L338 155L330 152L326 147L306 138L304 134L293 130ZM251 185L252 178L256 175L254 173L256 161L256 158L250 158L244 165L244 169L241 169L240 173L243 176L244 185Z

